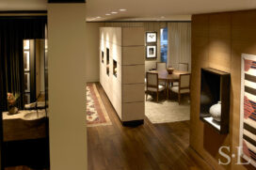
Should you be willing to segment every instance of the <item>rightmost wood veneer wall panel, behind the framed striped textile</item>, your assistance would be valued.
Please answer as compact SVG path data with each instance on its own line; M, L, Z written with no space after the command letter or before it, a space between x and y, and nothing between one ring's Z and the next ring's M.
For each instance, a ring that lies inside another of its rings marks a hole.
M256 54L256 10L232 13L232 152L239 146L241 54ZM232 162L232 169L244 170L246 166Z

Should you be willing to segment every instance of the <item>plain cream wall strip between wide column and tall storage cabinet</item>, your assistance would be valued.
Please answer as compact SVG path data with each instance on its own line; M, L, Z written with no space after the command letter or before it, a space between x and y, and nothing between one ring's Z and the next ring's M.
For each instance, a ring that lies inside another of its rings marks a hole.
M87 23L87 82L100 81L100 30L104 23Z

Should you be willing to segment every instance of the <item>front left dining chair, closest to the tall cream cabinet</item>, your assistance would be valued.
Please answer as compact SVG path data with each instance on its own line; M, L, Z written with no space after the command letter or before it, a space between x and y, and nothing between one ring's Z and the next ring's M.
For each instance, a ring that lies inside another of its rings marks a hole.
M164 91L166 95L166 85L158 84L158 73L147 72L147 90L146 90L146 100L148 99L149 92L156 93L156 101L158 102L159 92Z

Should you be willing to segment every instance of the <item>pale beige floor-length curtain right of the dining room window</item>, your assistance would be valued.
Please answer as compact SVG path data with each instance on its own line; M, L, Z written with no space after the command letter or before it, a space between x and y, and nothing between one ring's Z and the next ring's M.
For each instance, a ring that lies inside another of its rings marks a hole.
M178 70L179 63L191 70L191 23L168 23L168 66Z

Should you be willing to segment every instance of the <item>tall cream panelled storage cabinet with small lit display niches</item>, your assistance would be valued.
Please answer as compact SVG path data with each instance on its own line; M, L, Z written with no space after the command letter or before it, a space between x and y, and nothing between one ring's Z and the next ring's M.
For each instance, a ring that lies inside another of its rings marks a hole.
M144 120L144 70L143 27L100 28L100 83L123 123Z

